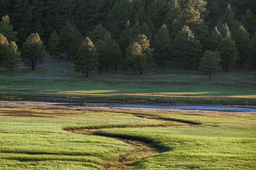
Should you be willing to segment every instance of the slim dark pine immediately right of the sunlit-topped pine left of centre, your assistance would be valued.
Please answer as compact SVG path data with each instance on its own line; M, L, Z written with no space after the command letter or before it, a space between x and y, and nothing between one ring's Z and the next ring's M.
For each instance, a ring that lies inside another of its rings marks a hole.
M103 64L108 62L108 56L107 53L107 46L106 43L103 40L99 40L95 43L95 48L97 50L98 56L98 62L99 62L99 73L102 73Z

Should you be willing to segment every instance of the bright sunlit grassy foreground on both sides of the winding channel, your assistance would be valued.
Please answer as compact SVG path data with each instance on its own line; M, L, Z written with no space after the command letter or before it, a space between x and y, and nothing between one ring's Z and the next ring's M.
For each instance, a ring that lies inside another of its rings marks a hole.
M1 108L0 169L255 169L255 116ZM120 139L156 152L141 155Z

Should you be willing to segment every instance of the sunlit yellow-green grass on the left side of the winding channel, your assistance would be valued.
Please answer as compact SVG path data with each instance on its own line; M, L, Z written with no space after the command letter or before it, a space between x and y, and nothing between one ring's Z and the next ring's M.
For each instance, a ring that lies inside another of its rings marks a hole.
M1 169L102 169L134 148L112 138L72 134L63 128L163 124L121 113L22 108L1 108L0 122Z

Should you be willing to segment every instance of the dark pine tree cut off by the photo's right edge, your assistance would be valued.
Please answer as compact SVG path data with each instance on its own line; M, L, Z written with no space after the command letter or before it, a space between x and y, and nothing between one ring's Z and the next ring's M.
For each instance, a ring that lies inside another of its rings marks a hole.
M256 33L250 39L249 45L246 47L246 62L251 64L252 69L256 69Z

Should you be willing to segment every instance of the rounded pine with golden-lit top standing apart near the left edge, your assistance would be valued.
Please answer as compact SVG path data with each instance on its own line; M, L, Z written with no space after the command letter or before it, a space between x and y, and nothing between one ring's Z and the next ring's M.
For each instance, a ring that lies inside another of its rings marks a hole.
M38 33L30 34L23 43L21 57L30 62L32 71L35 71L36 63L44 60L45 46Z

